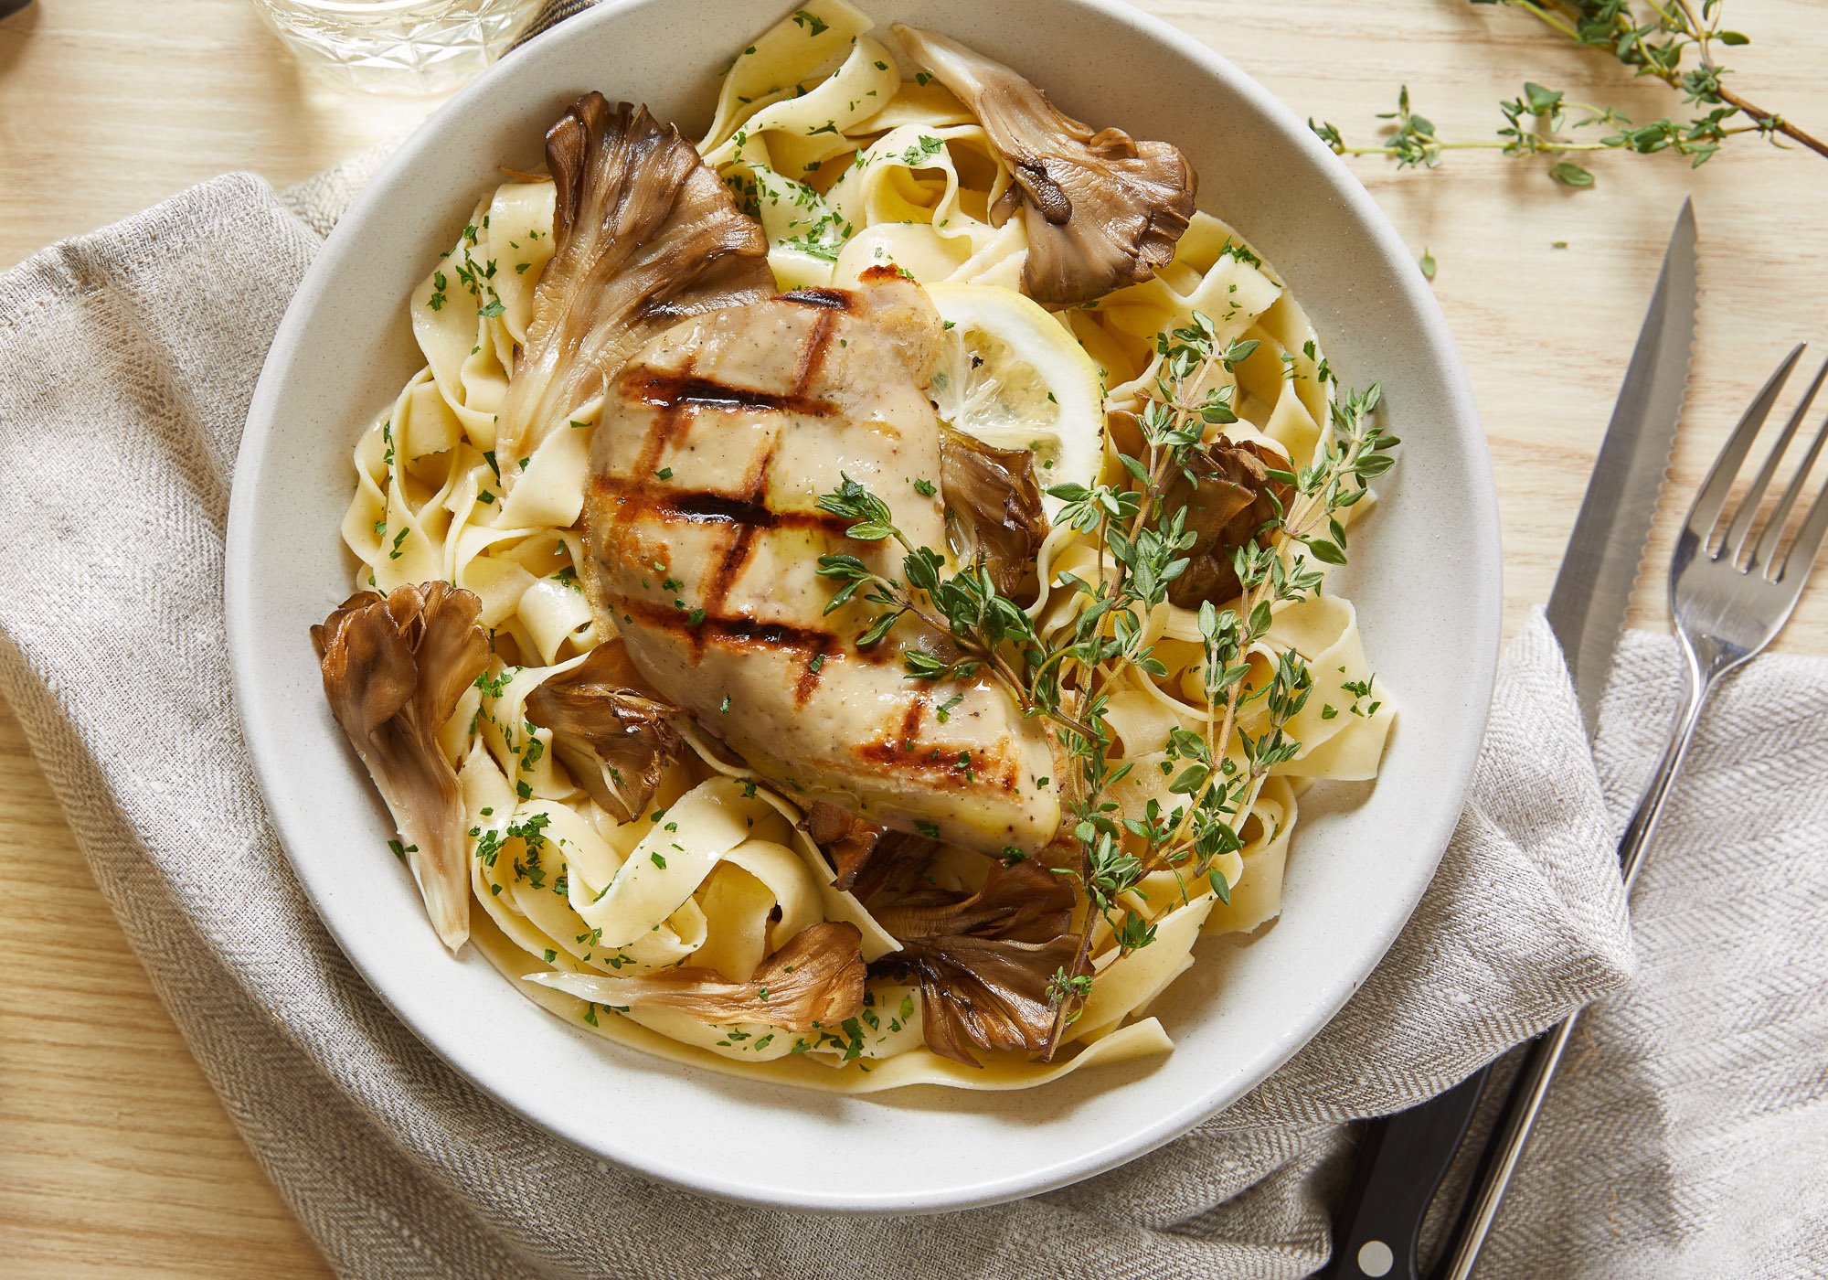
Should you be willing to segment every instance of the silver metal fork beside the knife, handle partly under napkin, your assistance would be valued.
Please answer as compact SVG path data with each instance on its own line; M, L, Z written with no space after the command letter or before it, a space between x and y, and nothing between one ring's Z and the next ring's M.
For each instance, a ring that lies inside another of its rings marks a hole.
M1784 525L1802 497L1810 470L1815 466L1828 443L1828 421L1810 443L1795 477L1777 501L1777 508L1764 521L1757 541L1751 541L1751 528L1759 519L1759 507L1764 501L1771 479L1777 475L1784 452L1802 426L1802 419L1815 400L1815 391L1828 379L1828 364L1823 366L1802 402L1777 435L1771 452L1753 477L1751 486L1740 497L1731 517L1726 516L1726 503L1733 490L1733 481L1751 453L1753 441L1764 428L1784 382L1802 357L1799 344L1790 357L1777 366L1777 373L1764 384L1759 397L1738 421L1727 439L1720 457L1715 459L1707 479L1702 481L1695 507L1682 525L1676 539L1676 554L1669 561L1669 613L1676 624L1676 640L1682 644L1684 666L1687 667L1687 686L1682 699L1682 711L1671 733L1669 750L1663 763L1656 766L1651 784L1632 814L1625 836L1620 839L1620 870L1625 878L1625 891L1631 892L1643 865L1643 852L1656 836L1656 821L1663 812L1663 801L1676 781L1695 726L1702 719L1702 709L1713 697L1720 680L1753 655L1760 653L1790 622L1797 600L1802 596L1802 583L1815 567L1817 552L1823 549L1823 536L1828 532L1828 483L1821 486L1810 505L1802 525L1788 549L1779 554ZM1722 523L1724 521L1724 523ZM1517 1081L1512 1084L1510 1099L1501 1117L1503 1132L1488 1148L1484 1165L1473 1187L1473 1200L1466 1205L1461 1229L1455 1232L1453 1249L1437 1269L1437 1280L1468 1280L1479 1256L1479 1247L1492 1231L1504 1187L1523 1156L1523 1147L1530 1137L1530 1126L1548 1093L1561 1053L1574 1035L1579 1013L1570 1013L1561 1026L1550 1028L1530 1048Z

